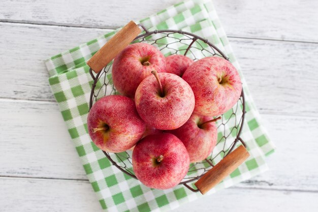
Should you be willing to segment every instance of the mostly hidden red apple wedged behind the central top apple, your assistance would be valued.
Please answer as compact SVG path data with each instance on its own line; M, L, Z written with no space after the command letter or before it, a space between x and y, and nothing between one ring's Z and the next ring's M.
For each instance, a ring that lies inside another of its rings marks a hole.
M185 70L194 63L192 59L187 56L174 54L166 57L167 73L172 73L182 77Z

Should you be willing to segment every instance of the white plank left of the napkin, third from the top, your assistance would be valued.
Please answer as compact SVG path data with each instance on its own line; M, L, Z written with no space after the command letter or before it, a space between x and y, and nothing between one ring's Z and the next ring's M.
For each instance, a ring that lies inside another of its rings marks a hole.
M0 175L87 179L56 103L1 100Z

